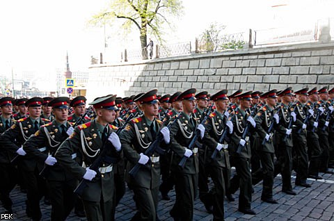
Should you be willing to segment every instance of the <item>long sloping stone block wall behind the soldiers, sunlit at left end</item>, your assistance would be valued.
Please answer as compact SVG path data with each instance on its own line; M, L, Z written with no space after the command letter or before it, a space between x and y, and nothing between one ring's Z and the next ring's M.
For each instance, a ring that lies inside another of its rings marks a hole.
M193 54L90 67L88 100L157 88L159 94L207 90L294 90L334 86L334 42Z

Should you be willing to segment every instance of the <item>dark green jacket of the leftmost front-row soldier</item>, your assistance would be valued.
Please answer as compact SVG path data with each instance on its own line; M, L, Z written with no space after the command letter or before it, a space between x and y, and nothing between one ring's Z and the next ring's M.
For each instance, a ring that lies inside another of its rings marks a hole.
M39 125L42 126L47 124L49 120L44 118L40 118ZM0 147L5 148L10 154L17 155L17 149L21 147L26 140L29 139L35 133L34 124L31 121L30 117L24 117L19 120L15 124L13 124L10 129L5 131L0 136ZM46 149L42 148L39 151L45 152ZM36 165L38 167L42 167L42 164L37 164L33 156L19 156L22 158L21 165L22 168L26 171L33 171L35 170Z

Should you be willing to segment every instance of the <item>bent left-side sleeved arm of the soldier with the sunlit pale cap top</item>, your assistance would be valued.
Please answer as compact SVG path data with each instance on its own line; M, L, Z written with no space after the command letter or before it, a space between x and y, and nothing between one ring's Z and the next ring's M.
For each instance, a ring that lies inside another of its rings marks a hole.
M61 144L55 154L58 163L60 163L65 170L72 173L78 180L81 180L86 173L86 169L77 163L80 145L80 130L76 127L72 135ZM77 161L72 158L72 154L74 153L77 153Z

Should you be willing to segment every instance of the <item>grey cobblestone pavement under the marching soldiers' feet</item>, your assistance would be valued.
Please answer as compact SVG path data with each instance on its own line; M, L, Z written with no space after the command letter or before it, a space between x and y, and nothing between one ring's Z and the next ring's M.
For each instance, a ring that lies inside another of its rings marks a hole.
M252 208L257 215L245 215L237 211L239 191L234 195L235 202L225 201L225 220L334 220L334 175L319 174L324 180L315 181L308 179L312 184L311 188L294 186L296 196L286 195L281 192L281 177L276 177L274 181L274 198L278 199L278 204L267 204L260 199L262 191L262 182L254 186ZM292 179L294 183L294 177ZM25 214L24 193L15 188L11 193L13 199L13 218L14 220L29 220ZM136 208L132 199L132 191L122 198L117 207L116 220L130 220ZM170 192L170 201L161 200L159 202L159 218L161 220L173 220L170 218L169 211L175 200L175 192ZM42 220L49 220L51 206L46 206L41 200ZM0 213L3 213L1 206ZM67 220L86 220L78 218L73 212ZM212 220L212 214L208 214L205 207L196 199L193 220Z

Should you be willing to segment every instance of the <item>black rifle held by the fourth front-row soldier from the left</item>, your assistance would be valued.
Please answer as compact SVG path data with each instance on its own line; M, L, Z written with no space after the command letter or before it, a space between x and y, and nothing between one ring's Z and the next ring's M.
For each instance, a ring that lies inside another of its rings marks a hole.
M170 122L168 124L168 129L170 129L170 126L172 126L173 124L175 124L175 122L177 121L177 119L179 119L181 114L178 114L177 116L175 116L175 119L173 120L173 122ZM151 142L150 146L148 147L148 149L145 150L144 154L148 157L152 156L152 154L157 151L159 152L159 154L164 153L163 150L160 149L159 147L159 143L161 142L161 140L164 139L164 136L162 135L162 133L159 133L157 138L155 138L154 141ZM132 167L132 169L129 171L129 174L132 177L136 177L136 174L138 173L139 169L141 168L142 164L141 163L136 163L136 165L134 165L134 167Z

